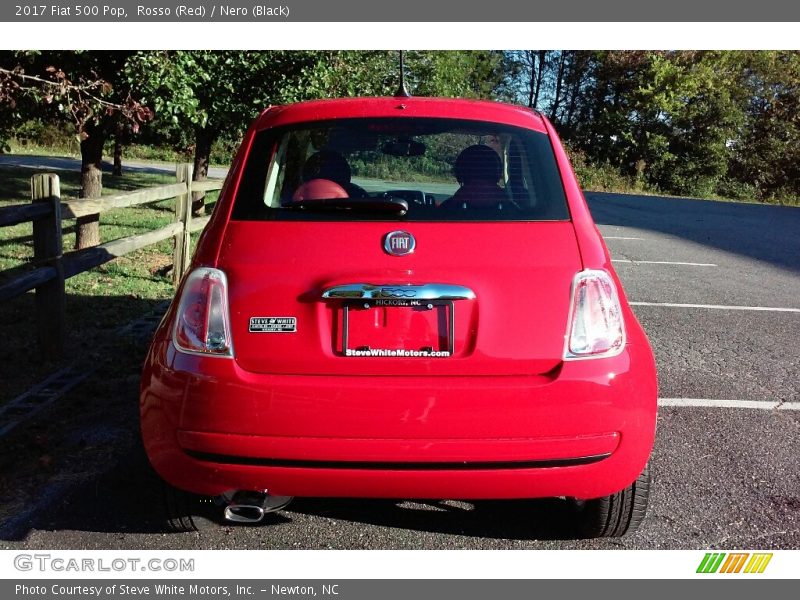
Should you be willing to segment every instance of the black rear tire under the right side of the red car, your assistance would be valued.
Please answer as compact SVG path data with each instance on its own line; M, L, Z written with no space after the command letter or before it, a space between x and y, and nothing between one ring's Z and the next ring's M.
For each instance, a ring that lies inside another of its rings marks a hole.
M578 534L583 538L622 537L636 531L647 514L650 466L624 490L578 502Z

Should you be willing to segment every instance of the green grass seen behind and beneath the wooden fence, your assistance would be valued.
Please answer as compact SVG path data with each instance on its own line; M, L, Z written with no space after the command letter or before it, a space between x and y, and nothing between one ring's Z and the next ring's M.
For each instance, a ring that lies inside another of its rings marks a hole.
M0 167L0 207L30 202L32 174L29 169ZM75 197L79 174L59 171L58 175L62 198ZM174 181L167 174L104 175L103 193L118 194ZM216 194L207 196L207 211L215 200ZM173 220L174 200L107 211L100 215L101 241L145 233ZM64 220L62 227L64 251L68 252L75 243L75 221ZM193 236L193 246L197 237ZM0 283L30 269L32 258L30 223L0 228ZM126 347L127 342L118 339L116 331L174 295L171 265L172 240L165 240L68 279L66 356L60 361L47 362L39 357L33 292L0 304L0 331L5 342L0 348L0 402L73 361L102 364L112 356L118 360L120 347ZM118 370L121 376L129 376L132 365L138 370L141 359L142 356L128 356L130 364L121 365Z

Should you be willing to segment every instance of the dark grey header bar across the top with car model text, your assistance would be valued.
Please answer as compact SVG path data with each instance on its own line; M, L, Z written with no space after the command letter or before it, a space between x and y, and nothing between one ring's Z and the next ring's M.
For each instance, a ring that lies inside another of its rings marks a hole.
M0 22L787 22L786 0L12 0Z

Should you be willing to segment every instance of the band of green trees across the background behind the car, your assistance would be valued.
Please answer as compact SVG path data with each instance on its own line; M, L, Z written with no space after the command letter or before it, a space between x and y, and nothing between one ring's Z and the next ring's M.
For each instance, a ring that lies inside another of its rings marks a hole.
M197 150L218 163L270 104L393 95L399 85L394 51L0 51L0 152L74 147L75 128L62 135L55 123L101 124L103 136L116 123L103 111L74 114L66 89L15 92L2 69L63 75L103 101L133 97L152 108L154 120L126 144L158 150L128 156L170 160ZM406 75L414 95L535 105L568 142L586 187L800 197L797 51L408 51ZM446 171L428 167L432 177Z

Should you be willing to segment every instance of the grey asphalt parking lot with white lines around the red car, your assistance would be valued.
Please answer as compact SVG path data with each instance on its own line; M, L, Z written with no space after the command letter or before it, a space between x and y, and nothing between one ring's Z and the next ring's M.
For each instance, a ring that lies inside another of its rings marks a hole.
M654 492L634 535L562 539L560 500L327 499L256 527L165 534L123 421L100 428L123 447L114 466L52 478L0 522L0 547L800 549L800 209L587 196L659 369ZM120 393L135 403L135 389Z

